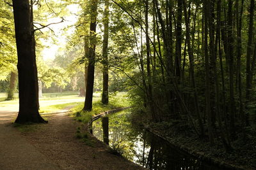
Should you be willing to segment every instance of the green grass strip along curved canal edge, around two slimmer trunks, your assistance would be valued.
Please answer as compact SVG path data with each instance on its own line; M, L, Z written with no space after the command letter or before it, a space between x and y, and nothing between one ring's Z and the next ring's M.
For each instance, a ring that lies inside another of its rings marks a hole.
M83 122L84 124L90 122L92 116L95 116L99 113L108 110L114 110L116 108L124 108L129 106L130 103L127 99L125 92L119 92L118 94L111 94L109 96L109 104L102 104L100 99L93 100L92 111L83 111L83 104L79 104L76 107L72 108L72 113L76 116L76 120Z

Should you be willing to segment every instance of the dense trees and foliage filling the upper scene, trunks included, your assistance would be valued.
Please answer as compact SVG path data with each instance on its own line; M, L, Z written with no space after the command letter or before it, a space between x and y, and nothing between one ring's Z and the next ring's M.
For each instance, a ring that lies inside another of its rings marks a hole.
M17 122L44 122L42 88L80 90L84 111L95 90L103 104L127 91L145 124L185 128L227 152L255 139L255 0L6 0L0 18L0 90L12 99L19 74ZM44 42L65 34L45 61Z

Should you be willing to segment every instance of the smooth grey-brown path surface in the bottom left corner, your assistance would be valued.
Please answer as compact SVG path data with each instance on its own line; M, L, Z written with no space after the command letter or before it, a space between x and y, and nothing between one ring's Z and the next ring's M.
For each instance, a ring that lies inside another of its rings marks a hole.
M10 123L6 123L0 124L0 169L60 169L60 167L29 144Z

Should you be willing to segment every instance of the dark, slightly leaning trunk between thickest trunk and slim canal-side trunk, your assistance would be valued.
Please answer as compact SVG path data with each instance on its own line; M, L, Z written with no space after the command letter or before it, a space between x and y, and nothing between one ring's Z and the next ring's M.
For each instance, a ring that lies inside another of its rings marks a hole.
M84 111L92 110L93 83L95 71L95 48L96 48L96 26L97 26L97 6L98 0L90 1L90 46L88 55L86 96L84 101Z

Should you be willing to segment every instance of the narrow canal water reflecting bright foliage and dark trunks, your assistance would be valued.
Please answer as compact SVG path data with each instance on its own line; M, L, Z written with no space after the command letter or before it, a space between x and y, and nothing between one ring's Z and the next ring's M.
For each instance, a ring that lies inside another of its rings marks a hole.
M129 115L129 111L121 111L96 120L93 135L125 158L148 169L220 169L177 150L151 132L132 126Z

